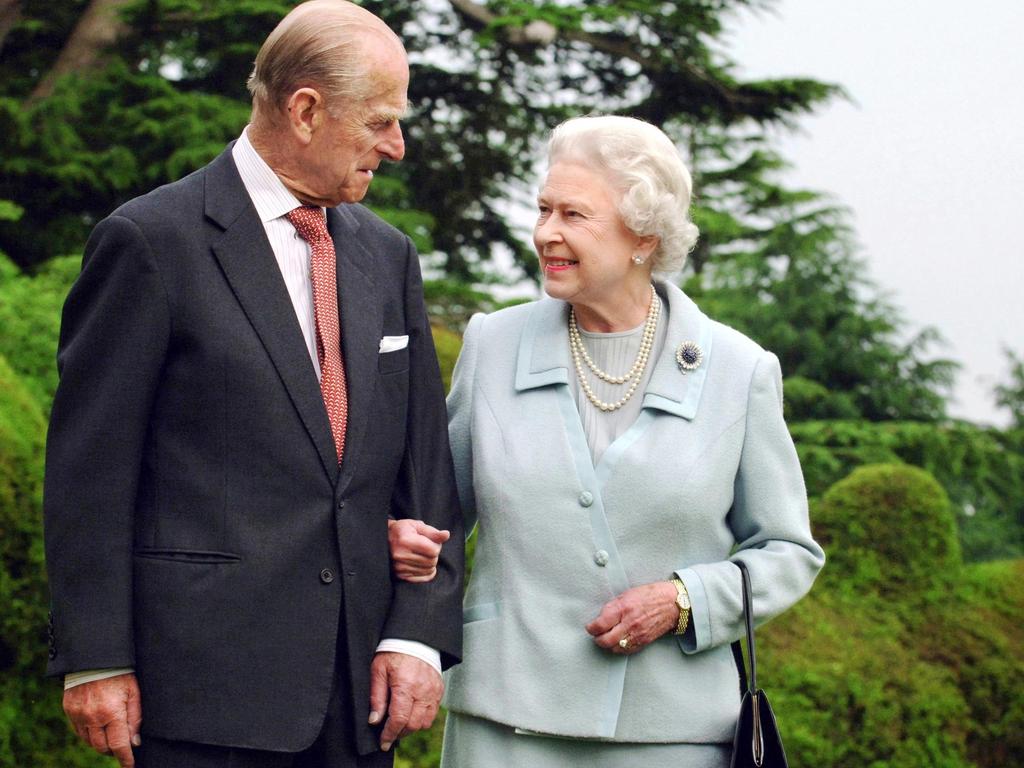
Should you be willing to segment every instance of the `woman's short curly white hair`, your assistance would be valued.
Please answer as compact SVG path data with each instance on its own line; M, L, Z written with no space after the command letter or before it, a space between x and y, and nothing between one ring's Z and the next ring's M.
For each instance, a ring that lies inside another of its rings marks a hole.
M611 115L572 118L552 132L548 161L582 162L604 176L622 194L618 214L626 226L658 238L654 272L668 276L683 268L699 233L689 215L693 181L658 128Z

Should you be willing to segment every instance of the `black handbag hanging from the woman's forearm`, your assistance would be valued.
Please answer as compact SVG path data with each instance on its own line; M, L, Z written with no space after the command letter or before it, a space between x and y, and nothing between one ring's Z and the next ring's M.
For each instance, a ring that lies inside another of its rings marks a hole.
M778 734L775 714L768 696L758 688L758 663L754 652L754 610L751 599L751 575L741 561L735 561L743 579L743 617L746 622L746 652L751 657L751 677L746 678L743 650L737 640L732 644L739 671L739 720L732 739L730 768L788 768L782 737Z

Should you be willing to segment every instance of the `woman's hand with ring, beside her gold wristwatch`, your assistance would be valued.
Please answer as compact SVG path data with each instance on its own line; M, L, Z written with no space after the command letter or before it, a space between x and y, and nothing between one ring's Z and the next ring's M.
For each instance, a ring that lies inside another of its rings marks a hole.
M594 642L612 653L636 653L679 623L676 588L672 582L654 582L626 590L601 608L587 625ZM626 643L621 644L623 638Z

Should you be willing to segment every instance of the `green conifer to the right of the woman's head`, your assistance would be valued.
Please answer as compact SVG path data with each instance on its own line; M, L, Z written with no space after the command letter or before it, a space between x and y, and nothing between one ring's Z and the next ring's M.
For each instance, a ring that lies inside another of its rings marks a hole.
M905 318L867 275L849 213L778 181L785 163L761 133L684 129L701 238L687 292L775 352L790 417L934 421L956 364L930 357L934 329Z

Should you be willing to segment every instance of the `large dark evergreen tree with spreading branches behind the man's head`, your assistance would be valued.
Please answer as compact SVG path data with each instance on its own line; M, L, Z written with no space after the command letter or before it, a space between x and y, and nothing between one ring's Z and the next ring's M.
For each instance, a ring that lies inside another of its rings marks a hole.
M730 11L769 5L758 0L364 4L401 34L414 71L408 158L369 202L461 279L498 245L535 269L505 201L536 184L539 141L569 114L785 122L836 92L735 78L714 41ZM0 49L0 132L11 137L0 198L26 210L19 224L0 224L0 248L23 265L77 250L119 203L207 162L245 124L252 60L292 5L24 0L16 18L0 9L0 29L14 18ZM97 35L97 14L121 20Z

